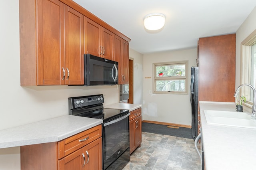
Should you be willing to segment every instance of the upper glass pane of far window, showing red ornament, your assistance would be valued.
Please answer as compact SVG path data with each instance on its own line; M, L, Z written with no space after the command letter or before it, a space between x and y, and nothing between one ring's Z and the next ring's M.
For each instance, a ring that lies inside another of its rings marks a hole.
M185 64L156 66L156 77L176 77L185 75Z

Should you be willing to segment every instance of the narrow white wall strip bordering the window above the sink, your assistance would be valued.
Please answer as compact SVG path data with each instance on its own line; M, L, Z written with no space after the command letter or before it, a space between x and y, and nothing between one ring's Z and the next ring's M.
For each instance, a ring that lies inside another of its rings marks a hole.
M256 30L256 7L236 31L236 87L240 85L241 43Z

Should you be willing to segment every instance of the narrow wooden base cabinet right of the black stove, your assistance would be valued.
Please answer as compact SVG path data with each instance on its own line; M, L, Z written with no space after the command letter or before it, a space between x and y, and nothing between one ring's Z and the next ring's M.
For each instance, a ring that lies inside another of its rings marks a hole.
M142 122L141 108L131 111L130 121L130 154L141 144Z

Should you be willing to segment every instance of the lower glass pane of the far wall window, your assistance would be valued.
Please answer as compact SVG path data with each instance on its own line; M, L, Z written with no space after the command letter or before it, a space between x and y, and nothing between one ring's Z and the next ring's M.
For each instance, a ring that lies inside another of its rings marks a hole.
M157 80L156 91L185 91L185 80Z

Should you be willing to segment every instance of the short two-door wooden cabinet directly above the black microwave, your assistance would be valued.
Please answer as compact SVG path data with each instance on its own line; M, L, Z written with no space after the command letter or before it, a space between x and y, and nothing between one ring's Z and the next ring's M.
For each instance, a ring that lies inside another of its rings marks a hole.
M84 17L84 51L113 60L114 34L100 24Z

